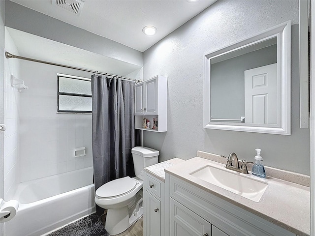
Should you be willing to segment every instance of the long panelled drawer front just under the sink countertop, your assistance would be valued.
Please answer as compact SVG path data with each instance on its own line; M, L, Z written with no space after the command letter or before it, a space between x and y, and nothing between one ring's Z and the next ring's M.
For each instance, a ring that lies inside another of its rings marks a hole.
M249 211L170 176L170 197L229 236L296 236Z

